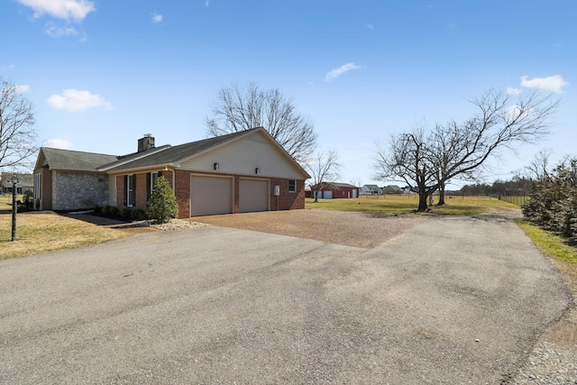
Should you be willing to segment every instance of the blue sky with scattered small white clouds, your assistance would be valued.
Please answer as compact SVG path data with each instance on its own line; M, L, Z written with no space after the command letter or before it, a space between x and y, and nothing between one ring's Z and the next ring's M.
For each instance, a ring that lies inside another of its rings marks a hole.
M576 16L573 0L0 0L0 77L33 103L39 145L114 155L147 133L206 138L234 82L277 88L338 152L338 181L379 186L401 184L373 177L391 134L471 117L490 89L560 100L491 183L540 150L577 156Z

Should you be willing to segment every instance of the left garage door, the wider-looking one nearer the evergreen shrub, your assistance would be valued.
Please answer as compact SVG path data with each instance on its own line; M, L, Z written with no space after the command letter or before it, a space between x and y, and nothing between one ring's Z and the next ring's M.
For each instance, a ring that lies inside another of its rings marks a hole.
M233 213L233 179L193 176L190 208L192 216Z

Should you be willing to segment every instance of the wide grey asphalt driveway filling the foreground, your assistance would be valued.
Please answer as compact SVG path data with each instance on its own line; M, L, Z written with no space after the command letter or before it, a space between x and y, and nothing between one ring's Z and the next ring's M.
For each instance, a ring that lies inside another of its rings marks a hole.
M507 221L138 234L0 261L0 382L507 383L569 298Z

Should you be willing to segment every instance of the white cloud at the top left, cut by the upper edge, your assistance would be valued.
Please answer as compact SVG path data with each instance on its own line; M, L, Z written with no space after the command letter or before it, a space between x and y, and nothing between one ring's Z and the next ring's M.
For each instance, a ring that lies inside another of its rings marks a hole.
M17 0L34 11L34 17L50 14L57 19L81 22L87 14L96 11L94 3L88 0Z

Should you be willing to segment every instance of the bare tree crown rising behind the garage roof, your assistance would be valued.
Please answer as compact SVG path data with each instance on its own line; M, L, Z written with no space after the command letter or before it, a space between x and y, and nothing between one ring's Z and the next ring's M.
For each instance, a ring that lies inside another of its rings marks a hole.
M242 88L234 83L219 90L212 114L206 116L210 136L264 127L298 162L316 148L313 124L278 89L261 90L255 83Z

